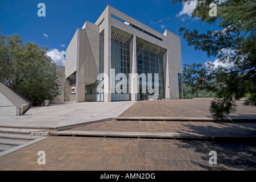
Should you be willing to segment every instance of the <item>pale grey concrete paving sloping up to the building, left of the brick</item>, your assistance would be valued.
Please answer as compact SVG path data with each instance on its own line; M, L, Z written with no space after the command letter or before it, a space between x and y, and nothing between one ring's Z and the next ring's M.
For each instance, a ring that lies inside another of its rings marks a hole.
M57 102L47 107L32 107L23 116L0 118L0 127L60 130L117 117L135 102Z

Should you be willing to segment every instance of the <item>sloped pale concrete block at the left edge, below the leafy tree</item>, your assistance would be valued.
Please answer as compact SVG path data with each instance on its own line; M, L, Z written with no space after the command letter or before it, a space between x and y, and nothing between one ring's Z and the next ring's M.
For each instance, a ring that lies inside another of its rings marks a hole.
M0 119L23 115L31 106L32 102L27 98L0 83Z

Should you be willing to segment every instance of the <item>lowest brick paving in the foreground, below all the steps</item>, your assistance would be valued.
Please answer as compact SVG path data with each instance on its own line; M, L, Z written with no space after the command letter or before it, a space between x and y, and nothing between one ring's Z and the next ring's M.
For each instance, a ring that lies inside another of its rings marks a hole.
M38 151L45 151L45 165L37 163ZM49 137L2 156L0 170L255 170L255 155L256 143Z

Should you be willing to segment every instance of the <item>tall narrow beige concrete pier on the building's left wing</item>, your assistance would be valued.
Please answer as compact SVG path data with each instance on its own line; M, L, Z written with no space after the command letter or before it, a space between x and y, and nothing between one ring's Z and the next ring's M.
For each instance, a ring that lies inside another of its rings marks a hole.
M75 102L85 102L85 59L81 56L80 46L82 42L81 31L78 30L77 36L77 77Z

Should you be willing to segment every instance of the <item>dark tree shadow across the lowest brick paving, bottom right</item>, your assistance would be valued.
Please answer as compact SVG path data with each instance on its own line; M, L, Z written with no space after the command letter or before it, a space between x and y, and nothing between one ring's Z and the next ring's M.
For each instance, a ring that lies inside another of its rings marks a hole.
M201 153L201 160L190 160L206 170L255 170L256 142L206 142L182 141L176 143L181 148ZM217 152L217 164L209 164L210 151ZM202 163L202 161L204 163Z

